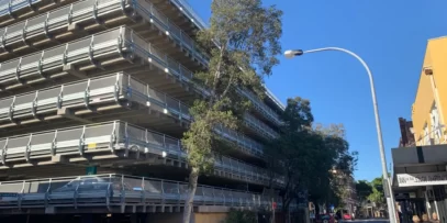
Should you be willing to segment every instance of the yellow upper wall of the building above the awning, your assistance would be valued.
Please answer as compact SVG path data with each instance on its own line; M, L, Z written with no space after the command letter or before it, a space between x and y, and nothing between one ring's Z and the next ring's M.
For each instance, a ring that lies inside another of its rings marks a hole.
M424 58L424 67L431 67L436 90L439 96L438 110L442 110L440 122L447 118L447 37L429 40ZM431 109L435 102L434 89L432 87L431 76L421 71L420 83L416 98L412 108L413 130L416 142L423 142L424 126L427 124L428 132L432 132ZM446 129L444 129L446 130Z

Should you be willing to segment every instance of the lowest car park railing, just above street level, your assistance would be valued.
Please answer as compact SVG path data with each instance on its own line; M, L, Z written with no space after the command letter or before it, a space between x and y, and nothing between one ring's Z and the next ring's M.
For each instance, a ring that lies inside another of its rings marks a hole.
M123 175L92 175L0 182L0 209L125 205L182 205L188 196L186 182ZM281 199L276 196L277 209ZM199 185L193 204L267 209L268 194ZM291 210L297 208L292 202ZM123 210L124 211L124 210Z

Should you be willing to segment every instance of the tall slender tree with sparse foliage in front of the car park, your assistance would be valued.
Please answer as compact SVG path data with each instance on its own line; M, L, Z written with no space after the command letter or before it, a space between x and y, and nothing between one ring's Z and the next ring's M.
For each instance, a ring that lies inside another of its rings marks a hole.
M261 97L262 77L271 74L281 52L282 12L264 7L260 0L213 0L210 27L197 35L199 46L210 55L206 70L194 74L194 85L206 89L208 97L197 100L193 118L182 145L188 152L189 197L183 222L189 222L199 175L213 167L214 130L235 130L249 102L237 89L249 89Z

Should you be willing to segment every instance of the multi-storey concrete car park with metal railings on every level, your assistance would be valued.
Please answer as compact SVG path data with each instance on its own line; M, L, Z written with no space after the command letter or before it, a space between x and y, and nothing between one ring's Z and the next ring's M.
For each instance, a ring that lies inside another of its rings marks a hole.
M188 188L179 138L189 105L209 94L192 82L209 59L193 41L200 29L183 0L0 1L0 214L176 222ZM238 132L216 126L230 149L199 179L195 213L269 210L264 189L283 187L270 181L262 144L284 108L268 89L262 101L237 91L254 109Z

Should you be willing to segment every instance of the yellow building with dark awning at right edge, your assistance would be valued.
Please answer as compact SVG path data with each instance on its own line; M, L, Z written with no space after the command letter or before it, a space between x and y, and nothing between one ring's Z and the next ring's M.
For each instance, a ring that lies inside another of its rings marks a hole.
M412 107L412 123L400 119L401 143L392 149L393 192L403 223L412 222L414 215L447 220L446 57L447 37L429 40Z

